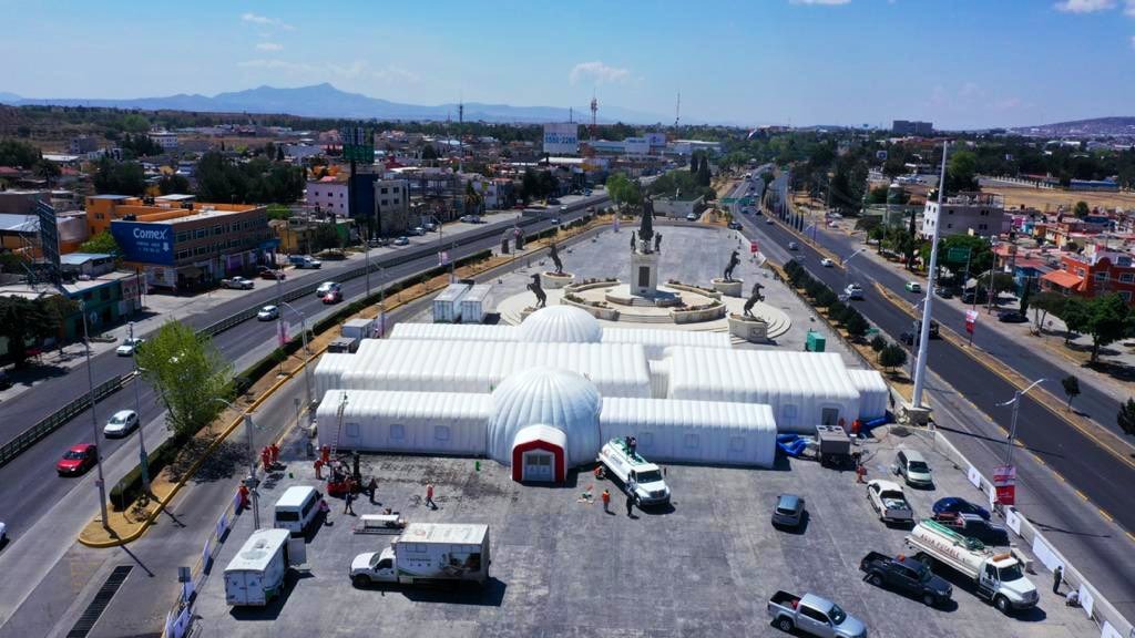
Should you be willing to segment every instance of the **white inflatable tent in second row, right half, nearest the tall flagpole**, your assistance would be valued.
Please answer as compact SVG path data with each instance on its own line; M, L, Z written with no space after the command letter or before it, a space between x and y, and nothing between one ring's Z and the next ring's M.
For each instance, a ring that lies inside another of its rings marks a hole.
M859 417L859 391L835 353L672 347L666 360L669 398L766 404L783 433Z

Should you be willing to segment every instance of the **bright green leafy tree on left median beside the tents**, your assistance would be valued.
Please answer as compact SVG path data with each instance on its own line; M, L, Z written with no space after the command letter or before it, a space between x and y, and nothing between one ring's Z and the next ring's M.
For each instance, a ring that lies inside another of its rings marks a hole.
M180 321L162 326L135 358L166 405L166 425L179 438L212 423L224 409L216 400L232 392L232 366L208 336Z

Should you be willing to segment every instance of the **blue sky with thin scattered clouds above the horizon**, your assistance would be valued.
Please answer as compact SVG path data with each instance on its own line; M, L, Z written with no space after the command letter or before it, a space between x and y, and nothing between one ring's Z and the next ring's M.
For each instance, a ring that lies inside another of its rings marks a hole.
M1135 0L0 0L0 92L397 102L982 128L1135 116ZM586 117L586 116L585 116Z

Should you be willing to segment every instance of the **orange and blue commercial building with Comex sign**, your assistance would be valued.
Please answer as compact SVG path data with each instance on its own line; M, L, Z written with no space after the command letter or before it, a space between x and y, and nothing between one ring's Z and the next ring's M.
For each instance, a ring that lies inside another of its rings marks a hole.
M150 286L197 289L275 260L279 240L268 226L266 207L188 201L146 205L116 198L87 198L87 225L106 226L124 260L141 269Z

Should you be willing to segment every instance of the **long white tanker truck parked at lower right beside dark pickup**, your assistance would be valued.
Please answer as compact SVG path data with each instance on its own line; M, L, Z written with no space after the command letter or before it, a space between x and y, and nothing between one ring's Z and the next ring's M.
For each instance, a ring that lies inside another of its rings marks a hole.
M1027 610L1040 601L1036 587L1009 552L994 554L981 542L930 520L916 524L906 542L919 560L933 559L973 580L977 595L1002 613Z

